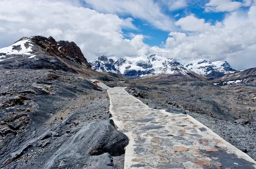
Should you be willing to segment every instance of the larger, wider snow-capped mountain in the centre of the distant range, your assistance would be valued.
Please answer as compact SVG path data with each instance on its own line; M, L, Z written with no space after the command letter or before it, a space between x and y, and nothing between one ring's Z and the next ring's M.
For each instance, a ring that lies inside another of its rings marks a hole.
M138 57L109 57L101 55L92 63L92 69L99 72L115 72L128 77L143 77L154 74L187 74L191 71L173 58L159 54Z

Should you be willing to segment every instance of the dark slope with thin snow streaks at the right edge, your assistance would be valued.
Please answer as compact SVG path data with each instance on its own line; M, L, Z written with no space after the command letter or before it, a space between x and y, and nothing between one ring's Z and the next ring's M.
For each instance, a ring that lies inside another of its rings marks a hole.
M230 84L256 84L256 68L246 69L241 72L227 74L218 79L212 80L215 85L224 86Z

